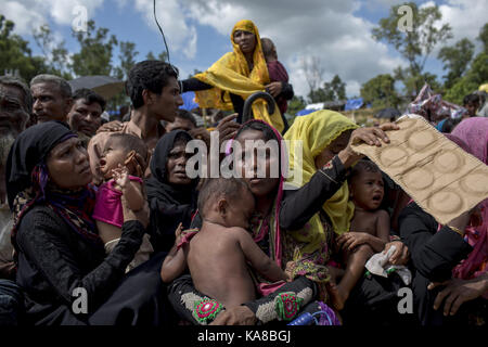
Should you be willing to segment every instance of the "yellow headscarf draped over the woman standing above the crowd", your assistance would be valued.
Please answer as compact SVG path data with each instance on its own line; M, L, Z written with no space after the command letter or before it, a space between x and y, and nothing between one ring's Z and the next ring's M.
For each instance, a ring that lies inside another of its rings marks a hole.
M249 31L256 36L256 47L253 53L254 67L252 72L249 72L247 61L239 44L234 42L234 33L236 30ZM201 107L230 111L233 106L229 93L240 95L246 100L257 91L265 91L265 86L270 81L268 66L262 54L261 40L256 25L247 20L237 22L232 29L231 41L233 52L226 53L205 73L194 76L198 80L215 87L208 90L195 91L195 99ZM222 91L224 91L223 98ZM256 119L265 120L280 132L283 131L284 124L277 105L274 113L269 115L266 101L260 99L253 104L253 113Z

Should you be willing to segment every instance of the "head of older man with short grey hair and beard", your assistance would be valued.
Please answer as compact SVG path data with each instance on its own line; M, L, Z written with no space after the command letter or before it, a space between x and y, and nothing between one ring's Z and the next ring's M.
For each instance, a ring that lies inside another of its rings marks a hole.
M30 80L30 92L34 98L33 110L37 123L67 120L73 98L72 87L66 80L54 75L37 75Z

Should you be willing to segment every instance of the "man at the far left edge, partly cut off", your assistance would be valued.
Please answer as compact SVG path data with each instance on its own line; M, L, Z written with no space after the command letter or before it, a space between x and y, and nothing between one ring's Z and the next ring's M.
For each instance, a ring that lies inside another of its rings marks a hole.
M0 325L16 324L23 299L14 280L10 242L12 217L7 203L5 163L10 147L30 117L33 97L20 79L0 76Z

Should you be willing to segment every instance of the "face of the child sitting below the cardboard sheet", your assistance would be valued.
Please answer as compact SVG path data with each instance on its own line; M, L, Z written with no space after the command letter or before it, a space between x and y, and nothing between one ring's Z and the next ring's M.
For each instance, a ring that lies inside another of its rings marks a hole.
M355 204L367 210L377 209L385 194L381 172L362 171L352 179L350 189Z

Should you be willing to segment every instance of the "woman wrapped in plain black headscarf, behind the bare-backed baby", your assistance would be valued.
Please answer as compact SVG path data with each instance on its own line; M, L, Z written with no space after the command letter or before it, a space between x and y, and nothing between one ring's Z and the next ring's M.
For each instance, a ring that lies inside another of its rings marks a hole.
M151 178L145 181L151 210L150 235L155 252L168 252L175 244L175 230L179 223L190 228L196 210L197 179L185 174L191 154L185 146L192 137L183 130L163 136L151 159Z

